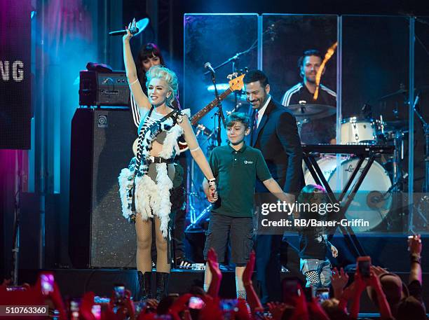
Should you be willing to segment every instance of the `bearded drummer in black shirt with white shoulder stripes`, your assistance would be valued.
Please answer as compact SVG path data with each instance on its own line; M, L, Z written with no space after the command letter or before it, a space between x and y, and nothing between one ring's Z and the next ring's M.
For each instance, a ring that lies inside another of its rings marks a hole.
M282 98L283 106L292 104L325 104L336 106L336 93L325 85L320 84L318 98L313 99L316 90L316 74L322 64L322 54L318 50L305 50L298 60L299 75L303 81L285 92ZM325 69L322 74L325 73ZM307 119L301 129L303 144L335 144L336 116L312 120Z

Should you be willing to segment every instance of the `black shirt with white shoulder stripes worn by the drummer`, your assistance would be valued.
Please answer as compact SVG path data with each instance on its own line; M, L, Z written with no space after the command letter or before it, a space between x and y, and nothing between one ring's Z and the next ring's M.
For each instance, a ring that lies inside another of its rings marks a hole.
M336 106L336 93L325 85L320 85L318 99L313 99L313 93L308 91L304 83L298 83L285 92L282 105L290 104L326 104ZM305 123L301 130L301 141L303 144L329 144L336 136L336 116L311 120Z

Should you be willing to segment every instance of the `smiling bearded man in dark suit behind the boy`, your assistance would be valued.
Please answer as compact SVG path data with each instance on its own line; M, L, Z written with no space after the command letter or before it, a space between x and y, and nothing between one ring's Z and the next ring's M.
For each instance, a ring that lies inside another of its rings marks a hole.
M270 93L268 78L260 70L249 71L244 78L247 101L253 109L251 146L258 148L273 179L285 193L294 194L303 186L302 149L297 122L292 113L275 102ZM257 181L257 193L268 193ZM263 303L281 301L280 244L282 235L257 235L257 279L261 284Z

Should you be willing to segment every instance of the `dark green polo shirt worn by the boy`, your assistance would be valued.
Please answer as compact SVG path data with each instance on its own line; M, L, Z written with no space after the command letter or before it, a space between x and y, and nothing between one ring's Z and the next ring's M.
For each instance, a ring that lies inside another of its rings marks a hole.
M213 149L209 163L219 195L212 212L233 217L253 216L256 179L271 178L261 151L246 145L239 151L230 145L218 146Z

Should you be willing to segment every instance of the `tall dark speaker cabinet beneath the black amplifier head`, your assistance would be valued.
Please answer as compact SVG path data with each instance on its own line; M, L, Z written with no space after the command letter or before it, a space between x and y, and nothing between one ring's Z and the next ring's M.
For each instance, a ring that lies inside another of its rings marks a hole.
M69 255L73 267L135 267L135 227L118 175L133 156L129 109L77 109L71 122Z

